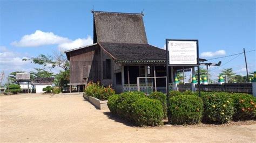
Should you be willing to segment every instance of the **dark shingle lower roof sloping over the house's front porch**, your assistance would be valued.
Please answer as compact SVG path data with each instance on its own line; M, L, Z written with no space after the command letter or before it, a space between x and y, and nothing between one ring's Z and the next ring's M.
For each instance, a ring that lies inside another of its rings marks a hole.
M163 62L164 49L149 44L123 44L101 42L99 45L117 62Z

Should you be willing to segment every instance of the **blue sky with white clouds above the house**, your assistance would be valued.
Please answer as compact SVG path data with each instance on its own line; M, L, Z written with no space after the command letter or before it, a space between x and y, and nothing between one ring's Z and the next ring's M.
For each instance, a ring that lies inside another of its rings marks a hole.
M0 0L0 71L7 74L33 70L35 65L21 59L64 51L71 45L90 44L93 8L134 13L144 10L150 44L164 48L166 38L199 39L199 52L204 59L240 53L242 48L251 51L256 46L255 1ZM256 70L255 56L255 51L247 53L250 71ZM233 58L210 62L225 63ZM214 69L211 74L217 75L221 69L230 67L235 73L245 75L244 55Z

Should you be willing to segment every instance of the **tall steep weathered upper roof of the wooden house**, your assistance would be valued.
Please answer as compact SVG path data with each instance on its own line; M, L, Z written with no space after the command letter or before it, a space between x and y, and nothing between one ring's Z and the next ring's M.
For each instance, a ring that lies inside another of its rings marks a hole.
M143 15L93 11L93 42L147 43Z

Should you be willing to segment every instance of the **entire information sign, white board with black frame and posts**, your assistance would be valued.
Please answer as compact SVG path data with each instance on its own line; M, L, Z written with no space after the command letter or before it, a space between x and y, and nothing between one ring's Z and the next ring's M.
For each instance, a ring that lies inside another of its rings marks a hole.
M169 66L198 67L198 94L200 96L200 63L198 40L191 39L166 39L166 76L167 76L167 113L169 113ZM170 118L168 117L170 124Z

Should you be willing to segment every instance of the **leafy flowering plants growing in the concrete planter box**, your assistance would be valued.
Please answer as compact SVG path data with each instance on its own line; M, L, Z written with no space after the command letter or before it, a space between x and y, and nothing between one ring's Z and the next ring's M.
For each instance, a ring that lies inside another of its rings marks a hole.
M109 96L114 95L115 92L111 87L103 87L102 85L89 82L85 88L85 94L100 99L101 101L107 100Z

